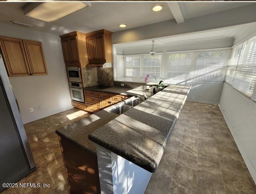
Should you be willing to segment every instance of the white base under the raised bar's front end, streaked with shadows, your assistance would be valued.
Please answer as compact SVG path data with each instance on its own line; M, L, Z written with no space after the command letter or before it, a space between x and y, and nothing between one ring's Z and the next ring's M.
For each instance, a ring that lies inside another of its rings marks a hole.
M101 194L144 194L152 173L125 158L97 148Z

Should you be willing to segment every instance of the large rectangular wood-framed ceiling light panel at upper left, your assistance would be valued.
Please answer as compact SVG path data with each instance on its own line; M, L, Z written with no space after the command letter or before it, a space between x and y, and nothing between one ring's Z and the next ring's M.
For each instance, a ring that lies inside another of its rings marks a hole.
M88 6L91 6L90 2L32 2L23 10L25 16L45 22L55 22Z

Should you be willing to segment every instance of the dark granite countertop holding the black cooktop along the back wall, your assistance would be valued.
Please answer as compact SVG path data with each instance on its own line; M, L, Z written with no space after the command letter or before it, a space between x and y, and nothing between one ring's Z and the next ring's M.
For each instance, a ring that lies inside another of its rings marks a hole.
M98 91L98 92L112 93L112 94L120 94L125 96L135 96L135 95L143 96L143 89L133 89L133 88L125 88L125 87L111 87L103 90L85 87L84 89Z

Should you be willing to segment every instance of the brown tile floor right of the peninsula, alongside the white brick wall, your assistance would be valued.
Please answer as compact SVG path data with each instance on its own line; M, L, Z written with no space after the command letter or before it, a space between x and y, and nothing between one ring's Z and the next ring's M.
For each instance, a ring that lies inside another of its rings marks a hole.
M218 106L185 103L145 193L256 193Z

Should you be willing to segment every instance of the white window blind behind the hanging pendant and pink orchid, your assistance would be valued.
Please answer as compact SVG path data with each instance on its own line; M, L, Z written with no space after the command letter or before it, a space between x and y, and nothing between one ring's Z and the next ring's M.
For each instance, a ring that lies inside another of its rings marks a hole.
M162 64L162 55L143 56L143 77L147 74L153 75L156 78L160 77L160 70Z

